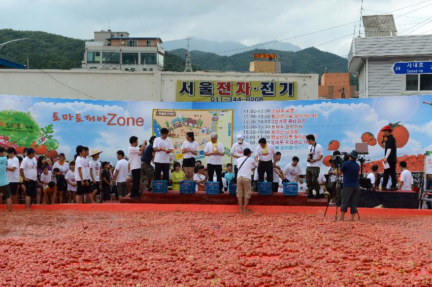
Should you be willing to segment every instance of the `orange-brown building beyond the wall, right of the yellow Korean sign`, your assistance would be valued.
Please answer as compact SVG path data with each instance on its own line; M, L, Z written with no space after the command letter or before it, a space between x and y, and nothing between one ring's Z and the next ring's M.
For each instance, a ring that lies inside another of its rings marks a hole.
M349 84L349 73L323 73L318 97L323 99L350 99L355 96L355 86Z

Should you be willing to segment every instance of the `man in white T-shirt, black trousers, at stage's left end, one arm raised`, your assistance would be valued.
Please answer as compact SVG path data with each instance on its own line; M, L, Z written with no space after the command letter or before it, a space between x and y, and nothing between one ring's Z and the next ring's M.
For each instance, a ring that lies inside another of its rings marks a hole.
M143 155L143 150L147 147L147 141L144 140L141 147L138 147L138 137L131 136L129 143L129 166L132 174L130 198L140 198L141 155Z

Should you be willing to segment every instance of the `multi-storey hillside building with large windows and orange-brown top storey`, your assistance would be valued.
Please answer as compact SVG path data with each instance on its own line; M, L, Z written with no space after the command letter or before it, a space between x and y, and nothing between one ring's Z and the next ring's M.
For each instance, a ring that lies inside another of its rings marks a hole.
M96 31L85 43L83 69L163 71L165 51L157 37L130 37L127 32Z

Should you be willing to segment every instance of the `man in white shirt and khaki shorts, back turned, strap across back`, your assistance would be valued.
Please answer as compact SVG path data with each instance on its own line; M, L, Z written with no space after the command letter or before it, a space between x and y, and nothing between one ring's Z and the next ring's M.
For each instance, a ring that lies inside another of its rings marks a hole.
M249 148L243 150L244 156L237 159L239 171L237 173L237 200L239 201L240 212L249 212L248 204L252 195L251 171L252 168L258 168L256 161L250 158L251 151ZM243 205L244 198L244 205Z

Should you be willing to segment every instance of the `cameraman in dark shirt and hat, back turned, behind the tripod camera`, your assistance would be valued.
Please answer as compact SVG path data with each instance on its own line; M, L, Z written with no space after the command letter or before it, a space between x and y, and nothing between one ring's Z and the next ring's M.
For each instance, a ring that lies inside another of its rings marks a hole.
M340 175L344 175L344 187L342 188L342 204L341 204L341 217L339 220L344 220L345 213L350 207L351 221L354 221L354 215L357 213L358 194L360 186L358 184L358 172L360 167L355 161L358 158L358 151L353 150L349 153L349 160L345 161L341 169Z

